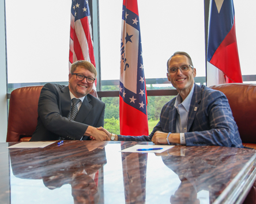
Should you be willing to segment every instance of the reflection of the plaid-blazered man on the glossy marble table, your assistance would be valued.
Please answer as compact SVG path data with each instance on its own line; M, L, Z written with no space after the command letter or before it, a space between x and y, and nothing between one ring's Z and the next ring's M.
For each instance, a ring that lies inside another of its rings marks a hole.
M186 152L186 148L175 147L159 154L164 164L174 171L181 181L174 195L171 195L170 202L197 204L200 203L197 193L206 190L209 191L209 201L212 203L234 178L232 170L236 165L231 164L236 164L238 151L238 148L231 148L227 155L222 147L203 147L192 156L190 151ZM220 164L231 168L216 171Z

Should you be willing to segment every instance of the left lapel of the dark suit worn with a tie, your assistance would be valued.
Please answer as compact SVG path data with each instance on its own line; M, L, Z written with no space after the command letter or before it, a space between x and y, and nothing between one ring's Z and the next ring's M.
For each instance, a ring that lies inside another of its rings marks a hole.
M61 110L62 116L69 116L69 111L71 109L71 98L69 93L69 86L65 86L61 89Z

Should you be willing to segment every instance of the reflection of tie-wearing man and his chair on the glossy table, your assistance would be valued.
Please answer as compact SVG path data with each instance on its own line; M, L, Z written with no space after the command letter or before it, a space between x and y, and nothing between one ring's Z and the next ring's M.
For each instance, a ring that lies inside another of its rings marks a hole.
M47 157L45 149L24 149L22 154L10 151L12 171L18 178L42 179L50 190L70 184L74 203L99 203L97 185L101 180L99 171L107 163L106 144L90 143L82 151L75 143L69 144L68 151L65 145L58 145L47 150ZM28 162L24 162L24 156Z

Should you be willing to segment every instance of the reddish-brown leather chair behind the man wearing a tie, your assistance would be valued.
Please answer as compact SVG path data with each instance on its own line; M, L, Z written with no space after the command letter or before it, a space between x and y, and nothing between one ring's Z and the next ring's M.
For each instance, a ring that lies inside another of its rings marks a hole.
M37 106L43 86L13 90L10 95L6 142L29 141L37 125ZM97 97L96 91L91 95Z

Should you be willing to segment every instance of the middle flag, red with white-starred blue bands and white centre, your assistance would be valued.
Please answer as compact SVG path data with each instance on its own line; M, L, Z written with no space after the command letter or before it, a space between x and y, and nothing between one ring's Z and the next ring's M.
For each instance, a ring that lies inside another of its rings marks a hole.
M119 90L121 134L148 135L146 84L137 0L123 0Z

